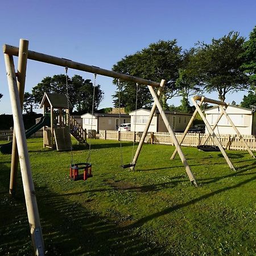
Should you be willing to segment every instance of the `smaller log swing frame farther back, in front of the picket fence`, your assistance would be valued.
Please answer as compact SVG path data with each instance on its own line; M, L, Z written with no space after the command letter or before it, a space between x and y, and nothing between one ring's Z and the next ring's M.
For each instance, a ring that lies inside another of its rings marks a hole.
M208 141L208 138L210 136L213 137L213 140L215 140L217 147L219 148L219 150L221 151L221 154L224 156L226 162L228 163L229 167L231 170L236 171L236 169L234 168L232 162L230 161L228 155L226 154L224 148L222 147L220 141L218 140L216 134L214 133L214 129L217 127L218 122L220 121L221 117L223 115L225 115L225 117L228 119L230 125L233 127L234 131L236 131L236 134L238 135L238 137L241 139L242 143L244 144L246 150L249 152L249 154L251 155L252 158L255 158L255 155L253 154L253 152L250 150L250 147L247 145L247 143L245 142L245 139L243 139L242 135L240 134L240 132L238 131L237 127L234 125L232 119L229 117L229 115L226 113L226 109L228 108L229 104L223 101L217 101L217 100L213 100L211 98L206 98L204 96L194 96L191 98L191 101L193 102L193 105L196 107L195 112L193 113L190 121L188 122L188 125L183 133L183 136L181 137L181 141L180 141L180 145L183 142L185 136L188 133L189 128L191 127L193 120L195 119L197 113L200 114L200 117L203 119L205 126L207 127L209 134L207 135L207 138L205 140L205 142ZM197 101L200 101L199 103L197 103ZM220 115L218 115L218 118L216 120L216 122L214 123L213 127L210 126L209 122L207 121L207 119L205 118L202 110L201 110L201 105L203 104L203 102L208 102L211 104L215 104L218 106L218 108L220 108L221 113ZM173 160L175 158L176 155L176 150L173 152L172 156L171 156L171 160Z

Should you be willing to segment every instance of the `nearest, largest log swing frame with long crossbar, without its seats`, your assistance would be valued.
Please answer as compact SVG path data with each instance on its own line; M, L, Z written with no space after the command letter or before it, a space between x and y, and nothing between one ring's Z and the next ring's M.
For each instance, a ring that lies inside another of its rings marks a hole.
M141 140L139 141L139 145L135 153L135 156L133 158L133 162L129 164L129 167L131 168L131 170L133 170L137 163L137 159L138 159L139 153L141 152L142 144L146 137L148 127L150 126L152 117L157 107L160 112L160 115L163 118L164 124L167 127L168 132L171 134L172 141L174 142L174 145L176 147L176 152L178 152L181 162L184 164L185 171L187 172L189 180L194 185L197 185L196 179L192 174L191 168L187 163L187 159L185 158L183 151L181 150L180 144L177 141L174 131L172 130L170 123L168 122L168 119L166 117L166 114L164 113L164 110L159 102L159 96L162 93L164 84L166 82L165 80L162 80L161 82L154 82L150 80L141 79L139 77L124 75L118 72L109 71L107 69L94 67L92 65L77 63L75 61L63 59L60 57L55 57L55 56L50 56L50 55L46 55L39 52L29 51L28 40L24 40L24 39L20 39L19 47L14 47L14 46L5 44L3 46L3 53L5 56L6 74L7 74L7 81L9 84L11 109L13 112L13 119L14 119L14 135L13 135L14 143L13 143L13 151L12 151L12 158L11 158L10 194L14 195L15 193L16 176L18 172L18 160L19 160L20 171L22 174L24 196L26 200L28 222L30 224L31 239L32 239L32 245L34 247L35 255L44 255L44 242L43 242L42 229L40 225L38 205L37 205L36 196L35 196L34 181L32 179L30 159L28 156L26 134L25 134L24 123L22 119L27 59L41 61L43 63L53 64L53 65L59 65L61 67L72 68L79 71L94 73L97 75L113 77L115 79L131 81L131 82L134 82L135 84L138 83L141 85L147 85L152 97L154 98L154 105L152 106L150 117L148 118L148 121L146 123ZM17 73L15 72L13 56L18 56ZM155 90L153 87L158 88L157 93L155 93Z

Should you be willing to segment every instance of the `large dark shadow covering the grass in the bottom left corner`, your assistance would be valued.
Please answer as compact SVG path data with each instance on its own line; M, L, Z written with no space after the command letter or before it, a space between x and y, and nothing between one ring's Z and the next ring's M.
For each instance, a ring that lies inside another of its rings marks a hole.
M47 255L165 254L156 243L136 236L137 230L121 228L47 187L36 187L36 197ZM12 200L1 192L0 205L6 217L0 221L0 254L32 255L24 198Z

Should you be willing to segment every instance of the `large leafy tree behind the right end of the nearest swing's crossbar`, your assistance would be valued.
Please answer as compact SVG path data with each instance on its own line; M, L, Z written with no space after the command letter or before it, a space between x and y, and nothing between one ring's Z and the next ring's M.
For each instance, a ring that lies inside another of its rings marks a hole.
M113 66L113 71L152 81L166 80L167 83L161 100L162 104L167 106L167 100L177 94L175 81L181 63L181 48L176 43L176 40L160 40L157 43L152 43L134 55L125 56ZM117 80L114 80L114 84L117 84ZM121 81L121 104L129 110L135 109L135 88L136 86L131 82ZM113 98L114 105L117 106L118 92L113 95ZM151 98L148 88L139 86L138 108L150 106L152 104Z

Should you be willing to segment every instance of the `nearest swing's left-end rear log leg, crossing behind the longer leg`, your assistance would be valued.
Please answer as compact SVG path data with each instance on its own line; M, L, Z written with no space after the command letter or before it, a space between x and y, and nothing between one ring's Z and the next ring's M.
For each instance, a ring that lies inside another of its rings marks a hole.
M28 41L24 39L19 40L19 59L18 59L18 91L20 108L23 108L23 98L24 89L26 81L26 70L27 70L27 51L28 51ZM15 126L13 130L13 149L11 152L11 174L10 174L10 195L15 195L15 190L17 186L17 175L18 175L18 149L16 144Z

